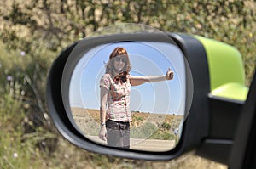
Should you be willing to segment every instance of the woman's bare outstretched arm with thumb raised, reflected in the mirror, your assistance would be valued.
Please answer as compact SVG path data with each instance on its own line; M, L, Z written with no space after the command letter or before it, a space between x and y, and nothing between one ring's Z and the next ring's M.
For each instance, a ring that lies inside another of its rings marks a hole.
M145 82L161 82L173 79L173 71L169 68L166 75L162 76L129 76L131 86L138 86Z

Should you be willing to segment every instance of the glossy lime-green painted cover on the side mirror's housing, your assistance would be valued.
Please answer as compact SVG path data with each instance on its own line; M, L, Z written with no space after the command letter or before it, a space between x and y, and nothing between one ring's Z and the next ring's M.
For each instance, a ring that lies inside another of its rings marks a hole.
M224 42L193 37L201 42L207 53L211 94L245 101L248 87L245 84L245 70L240 52Z

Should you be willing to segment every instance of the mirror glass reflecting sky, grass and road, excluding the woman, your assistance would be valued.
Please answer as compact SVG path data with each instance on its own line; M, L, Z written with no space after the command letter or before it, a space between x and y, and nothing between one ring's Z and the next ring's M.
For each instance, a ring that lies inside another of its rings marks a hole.
M165 76L169 68L173 71L172 80L131 86L130 149L167 151L175 148L185 115L186 67L183 53L171 43L113 42L90 48L75 65L69 84L73 121L86 138L107 144L99 138L100 82L109 55L116 47L126 49L131 76Z

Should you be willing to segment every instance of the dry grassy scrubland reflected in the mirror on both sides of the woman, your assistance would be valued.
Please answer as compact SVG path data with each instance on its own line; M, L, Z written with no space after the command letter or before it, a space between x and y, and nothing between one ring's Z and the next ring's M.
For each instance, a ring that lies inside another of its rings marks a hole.
M72 108L71 111L77 127L84 135L98 135L100 131L99 110ZM175 139L173 132L180 127L182 120L182 115L132 112L131 138Z

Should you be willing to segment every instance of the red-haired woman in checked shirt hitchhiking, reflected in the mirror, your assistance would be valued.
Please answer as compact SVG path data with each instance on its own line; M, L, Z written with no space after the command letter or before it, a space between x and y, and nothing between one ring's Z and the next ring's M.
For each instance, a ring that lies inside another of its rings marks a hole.
M101 129L99 138L108 146L130 148L130 92L131 86L145 82L172 80L170 69L163 76L131 76L131 64L125 48L114 48L100 82Z

